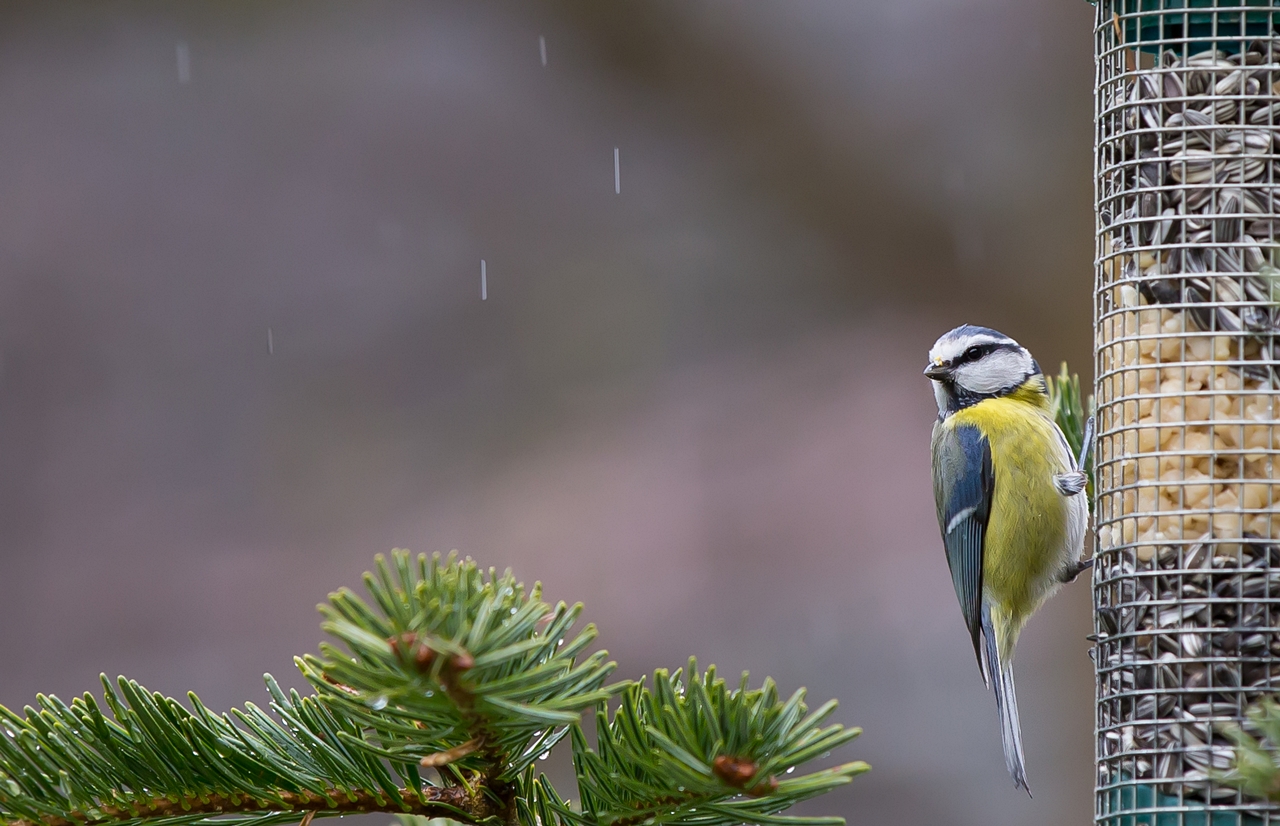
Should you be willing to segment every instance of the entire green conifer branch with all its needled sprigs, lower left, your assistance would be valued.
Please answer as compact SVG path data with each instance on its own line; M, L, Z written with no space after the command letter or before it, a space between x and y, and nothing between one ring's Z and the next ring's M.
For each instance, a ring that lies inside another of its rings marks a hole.
M297 660L314 695L266 676L269 709L214 715L120 677L65 704L0 707L0 825L269 826L388 812L472 826L782 823L777 813L865 771L850 763L783 776L856 736L819 727L771 680L728 690L690 662L653 690L607 685L580 606L554 608L511 574L453 557L378 558L371 603L347 590L321 606L346 649ZM611 697L622 692L612 717ZM598 747L579 725L598 716ZM532 762L572 736L581 811ZM425 771L424 771L425 770ZM780 776L782 777L780 780ZM803 821L829 823L832 818Z

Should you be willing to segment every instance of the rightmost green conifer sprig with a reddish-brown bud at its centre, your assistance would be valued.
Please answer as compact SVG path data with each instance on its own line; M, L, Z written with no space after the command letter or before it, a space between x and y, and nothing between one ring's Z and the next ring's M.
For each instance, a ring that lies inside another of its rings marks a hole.
M820 727L836 709L831 700L812 713L804 690L781 702L773 680L748 689L748 675L731 690L710 667L653 675L653 689L631 685L612 717L596 712L596 748L573 726L581 812L573 812L541 782L524 822L562 826L730 826L771 823L831 826L842 818L780 817L800 800L824 794L868 771L845 763L792 777L803 763L826 757L861 729Z

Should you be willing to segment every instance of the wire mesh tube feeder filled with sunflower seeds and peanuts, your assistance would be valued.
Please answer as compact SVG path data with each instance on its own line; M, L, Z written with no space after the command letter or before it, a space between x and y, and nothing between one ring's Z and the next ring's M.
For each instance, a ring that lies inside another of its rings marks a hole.
M1276 0L1280 5L1280 0ZM1217 781L1280 688L1280 13L1101 0L1096 822L1280 823Z

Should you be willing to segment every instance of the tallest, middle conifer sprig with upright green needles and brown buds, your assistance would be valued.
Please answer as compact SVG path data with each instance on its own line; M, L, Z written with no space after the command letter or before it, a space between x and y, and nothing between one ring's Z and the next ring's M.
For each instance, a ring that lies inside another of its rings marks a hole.
M623 685L604 685L614 663L603 651L575 662L596 635L588 625L566 642L582 606L553 610L511 572L398 553L390 566L379 557L365 585L376 610L347 589L320 607L349 653L321 644L298 667L330 706L375 730L392 724L390 740L413 733L420 743L381 752L406 767L426 759L512 782Z

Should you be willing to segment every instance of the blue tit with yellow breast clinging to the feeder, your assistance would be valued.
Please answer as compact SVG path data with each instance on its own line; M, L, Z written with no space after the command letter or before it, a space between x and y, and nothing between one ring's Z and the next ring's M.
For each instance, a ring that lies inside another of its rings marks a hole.
M1088 522L1083 467L1053 421L1044 375L1012 338L957 327L933 344L933 494L960 611L983 681L995 688L1005 765L1030 794L1014 695L1014 647L1027 620L1080 561Z

